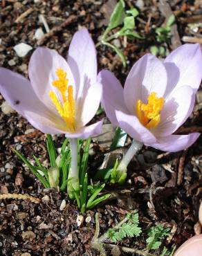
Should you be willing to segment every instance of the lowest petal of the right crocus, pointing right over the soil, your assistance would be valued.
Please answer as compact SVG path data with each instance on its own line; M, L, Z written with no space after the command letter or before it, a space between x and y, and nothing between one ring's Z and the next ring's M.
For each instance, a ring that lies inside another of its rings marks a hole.
M190 147L199 138L199 133L188 135L169 135L157 139L157 143L147 143L147 146L160 149L165 152L178 152Z

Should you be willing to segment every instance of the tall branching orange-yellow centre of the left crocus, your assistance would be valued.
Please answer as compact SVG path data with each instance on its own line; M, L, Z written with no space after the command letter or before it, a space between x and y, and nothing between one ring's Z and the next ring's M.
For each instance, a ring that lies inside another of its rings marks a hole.
M68 86L68 79L66 78L66 72L62 68L57 68L56 75L57 80L52 82L52 85L55 86L59 93L62 96L62 103L58 100L57 95L53 92L49 92L50 99L62 117L66 122L68 131L75 131L75 101L73 99L73 86Z

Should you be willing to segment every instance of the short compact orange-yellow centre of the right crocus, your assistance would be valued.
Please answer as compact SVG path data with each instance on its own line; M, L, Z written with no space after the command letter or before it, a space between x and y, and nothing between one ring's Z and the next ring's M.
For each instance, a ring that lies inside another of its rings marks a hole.
M136 103L136 112L141 124L145 127L154 128L160 122L160 111L163 109L164 98L156 97L156 93L151 93L148 103L144 104L141 100Z

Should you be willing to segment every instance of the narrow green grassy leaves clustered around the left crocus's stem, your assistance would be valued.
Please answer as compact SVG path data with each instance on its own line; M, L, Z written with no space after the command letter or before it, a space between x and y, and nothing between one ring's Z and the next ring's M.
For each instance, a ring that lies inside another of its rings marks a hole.
M73 197L76 199L77 206L80 208L81 212L85 212L86 209L92 209L98 203L109 198L110 194L104 194L99 196L100 192L103 190L105 184L89 184L87 170L87 163L89 159L89 146L91 143L91 138L85 141L78 140L78 167L80 170L80 188L77 191L73 190ZM30 163L28 159L23 156L16 149L12 149L15 154L23 161L30 169L31 172L41 181L44 188L57 188L60 191L67 189L68 183L68 172L71 165L71 150L68 145L68 138L64 140L62 144L61 152L57 154L55 149L55 144L53 138L50 134L47 135L46 146L48 149L48 156L50 160L50 168L46 168L40 163L39 158L33 156L35 159L35 165ZM72 191L72 190L71 190ZM68 192L68 190L67 190ZM70 196L70 195L69 195Z

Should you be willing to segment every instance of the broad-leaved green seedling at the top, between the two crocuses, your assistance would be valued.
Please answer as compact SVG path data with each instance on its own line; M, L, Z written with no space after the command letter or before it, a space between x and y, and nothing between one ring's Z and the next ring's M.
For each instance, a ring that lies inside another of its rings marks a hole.
M126 58L125 55L122 53L122 50L112 44L111 42L113 39L117 39L118 37L126 36L128 38L139 38L142 39L138 33L136 33L136 23L135 19L138 16L139 12L136 8L131 8L130 10L125 10L125 1L120 0L116 4L114 8L109 25L107 26L106 30L104 31L102 37L100 37L100 42L96 46L105 45L113 49L120 60L122 61L123 66L126 66ZM118 30L117 30L118 28ZM111 33L111 35L109 35Z

